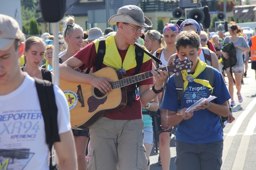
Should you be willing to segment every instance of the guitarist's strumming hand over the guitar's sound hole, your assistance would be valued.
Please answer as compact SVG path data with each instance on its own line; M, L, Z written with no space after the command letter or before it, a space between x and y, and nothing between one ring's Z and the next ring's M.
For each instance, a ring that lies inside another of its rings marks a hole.
M105 79L104 77L94 77L92 86L98 88L101 93L109 93L112 90L110 82L113 82L113 80Z

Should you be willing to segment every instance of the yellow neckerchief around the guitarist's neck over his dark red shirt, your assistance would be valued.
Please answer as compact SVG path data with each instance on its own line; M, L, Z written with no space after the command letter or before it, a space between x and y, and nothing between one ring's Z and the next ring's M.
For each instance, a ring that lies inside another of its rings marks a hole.
M99 40L98 39L94 40L93 43L95 44L96 52L98 52ZM122 63L122 58L117 50L117 45L115 43L115 35L110 35L106 39L105 43L106 43L106 53L103 59L103 64L105 64L106 66L112 67L114 69L123 68L126 71L136 67L135 45L130 45L125 55L125 59ZM144 46L143 48L146 49ZM150 57L144 53L143 63L145 63L149 59Z

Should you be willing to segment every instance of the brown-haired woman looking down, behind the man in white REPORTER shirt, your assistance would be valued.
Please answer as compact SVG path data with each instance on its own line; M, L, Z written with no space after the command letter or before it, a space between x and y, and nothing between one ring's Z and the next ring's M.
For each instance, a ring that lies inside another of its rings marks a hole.
M42 38L32 36L25 41L24 60L25 66L21 70L31 77L49 80L52 82L54 74L48 69L41 68L39 64L45 55L45 43Z

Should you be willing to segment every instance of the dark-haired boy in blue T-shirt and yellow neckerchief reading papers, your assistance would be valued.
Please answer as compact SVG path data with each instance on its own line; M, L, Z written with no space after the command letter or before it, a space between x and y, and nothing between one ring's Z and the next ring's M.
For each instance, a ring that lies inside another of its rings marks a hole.
M223 130L220 116L229 114L227 100L230 99L225 82L217 69L213 68L214 89L206 79L206 63L200 61L200 37L193 31L183 31L175 40L177 54L193 61L190 74L181 71L183 77L183 99L179 104L173 74L167 81L161 108L167 109L170 126L178 125L175 132L177 170L219 170L222 165ZM211 76L210 76L211 77ZM211 91L217 98L185 113L201 98L208 98ZM180 110L179 110L180 109ZM178 111L179 110L179 111Z

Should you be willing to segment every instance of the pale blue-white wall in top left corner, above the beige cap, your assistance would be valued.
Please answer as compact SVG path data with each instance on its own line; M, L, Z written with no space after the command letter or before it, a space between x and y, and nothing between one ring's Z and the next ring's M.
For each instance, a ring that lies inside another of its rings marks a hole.
M0 0L0 13L14 18L19 27L21 26L21 1L20 0Z

